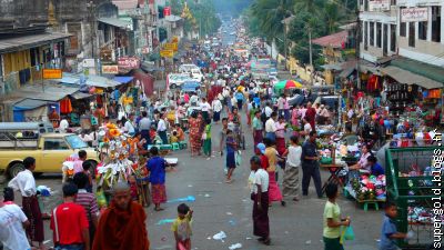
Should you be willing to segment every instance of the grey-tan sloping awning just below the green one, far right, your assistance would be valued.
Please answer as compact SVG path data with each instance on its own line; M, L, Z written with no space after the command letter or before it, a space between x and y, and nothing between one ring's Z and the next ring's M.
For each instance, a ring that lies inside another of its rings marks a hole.
M400 83L417 84L425 89L436 89L444 87L442 82L437 82L430 78L422 77L420 74L413 73L408 70L403 70L394 66L387 66L385 68L381 68L380 71L395 79Z

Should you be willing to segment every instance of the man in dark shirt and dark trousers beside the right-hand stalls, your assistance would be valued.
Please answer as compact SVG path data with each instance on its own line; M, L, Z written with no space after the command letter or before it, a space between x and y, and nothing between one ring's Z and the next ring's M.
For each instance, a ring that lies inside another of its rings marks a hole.
M309 196L310 180L313 178L317 198L322 198L321 173L316 151L316 131L310 131L309 140L302 146L302 194Z

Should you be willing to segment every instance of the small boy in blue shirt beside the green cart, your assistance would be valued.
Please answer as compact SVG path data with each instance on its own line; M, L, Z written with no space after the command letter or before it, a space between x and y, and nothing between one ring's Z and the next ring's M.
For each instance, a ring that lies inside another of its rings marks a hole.
M385 204L385 216L381 230L380 250L396 250L396 239L406 239L407 234L398 232L394 219L397 217L396 206L390 201Z

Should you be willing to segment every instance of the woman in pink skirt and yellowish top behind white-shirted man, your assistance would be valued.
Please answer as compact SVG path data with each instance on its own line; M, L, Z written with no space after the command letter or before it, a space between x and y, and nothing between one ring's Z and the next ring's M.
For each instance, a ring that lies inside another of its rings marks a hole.
M282 206L285 206L285 201L282 197L282 192L279 189L276 182L276 163L278 163L278 151L274 148L274 141L270 140L269 138L264 138L264 143L266 146L264 150L265 157L269 159L269 168L266 172L269 172L269 200L270 206L273 201L281 201Z

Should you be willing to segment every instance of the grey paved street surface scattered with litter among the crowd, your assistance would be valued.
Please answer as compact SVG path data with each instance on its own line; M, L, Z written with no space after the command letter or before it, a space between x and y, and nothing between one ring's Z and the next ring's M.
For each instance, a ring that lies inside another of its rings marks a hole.
M242 116L244 118L244 114ZM218 138L220 126L213 126L213 138ZM249 130L246 130L249 131ZM246 133L248 149L243 154L243 164L234 172L234 182L224 183L224 158L190 158L189 151L178 151L179 166L167 177L168 198L183 198L194 196L195 202L190 206L194 210L193 249L219 250L229 249L231 244L242 243L242 249L279 249L279 250L321 250L322 213L324 200L316 198L314 188L307 198L300 202L287 202L285 208L274 203L270 210L272 247L261 246L252 236L251 207L246 179L250 172L248 159L252 156L252 137ZM213 147L218 140L213 140ZM282 177L282 172L280 173ZM323 180L327 173L322 172ZM47 208L52 208L61 201L60 176L42 177L37 179L38 184L46 184L56 193L48 201ZM21 199L18 198L18 201ZM382 221L381 211L364 212L356 208L353 201L344 198L339 200L343 214L352 218L356 239L346 242L345 249L375 250L376 239ZM169 223L158 224L163 219L174 219L178 203L165 204L165 210L154 212L152 207L148 212L148 231L151 249L175 249L174 238ZM209 239L214 233L224 231L224 242ZM46 237L51 239L49 222L46 222ZM52 244L51 241L48 244Z

